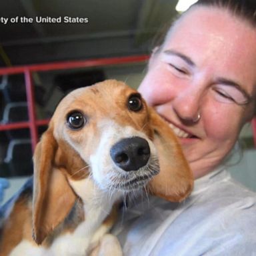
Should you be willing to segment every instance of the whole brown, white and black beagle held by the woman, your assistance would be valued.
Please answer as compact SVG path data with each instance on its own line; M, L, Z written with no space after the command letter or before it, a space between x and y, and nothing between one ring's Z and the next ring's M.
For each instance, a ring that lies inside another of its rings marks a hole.
M169 125L115 80L59 103L33 163L33 181L1 209L1 256L121 255L108 232L129 191L181 201L193 187Z

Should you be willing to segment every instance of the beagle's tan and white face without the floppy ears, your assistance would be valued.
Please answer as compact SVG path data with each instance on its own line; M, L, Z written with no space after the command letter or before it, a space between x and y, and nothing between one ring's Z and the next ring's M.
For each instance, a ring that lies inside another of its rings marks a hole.
M67 95L53 115L53 134L88 168L101 189L129 191L159 173L149 109L137 91L108 81Z

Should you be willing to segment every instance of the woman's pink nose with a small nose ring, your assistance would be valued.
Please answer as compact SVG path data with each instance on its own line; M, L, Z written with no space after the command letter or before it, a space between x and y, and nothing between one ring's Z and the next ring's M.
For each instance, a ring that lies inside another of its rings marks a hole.
M203 93L197 89L179 91L173 99L173 110L179 119L187 122L196 122L201 116Z

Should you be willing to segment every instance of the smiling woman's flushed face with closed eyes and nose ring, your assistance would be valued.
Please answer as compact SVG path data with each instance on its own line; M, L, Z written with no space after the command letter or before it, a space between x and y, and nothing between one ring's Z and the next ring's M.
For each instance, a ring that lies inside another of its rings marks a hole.
M195 178L219 165L253 115L255 42L246 21L196 7L151 57L139 91L174 129Z

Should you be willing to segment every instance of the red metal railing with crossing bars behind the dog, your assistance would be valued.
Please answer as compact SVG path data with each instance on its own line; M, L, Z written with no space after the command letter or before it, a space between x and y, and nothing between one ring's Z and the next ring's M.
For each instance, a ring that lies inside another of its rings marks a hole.
M0 125L0 131L6 131L10 129L23 129L29 128L31 135L31 145L34 151L35 145L38 141L38 131L37 127L41 125L47 125L48 119L37 120L35 115L35 96L34 96L34 85L32 79L32 72L35 71L52 71L61 69L75 69L83 67L99 67L105 65L118 65L127 63L139 63L147 61L149 59L148 55L137 55L128 57L112 57L112 58L102 58L102 59L89 59L84 61L64 61L56 63L45 63L39 65L26 65L19 67L6 67L0 69L0 75L13 75L17 73L23 73L25 76L25 85L27 93L27 107L29 113L29 121L27 122L17 122L17 123L7 123Z

